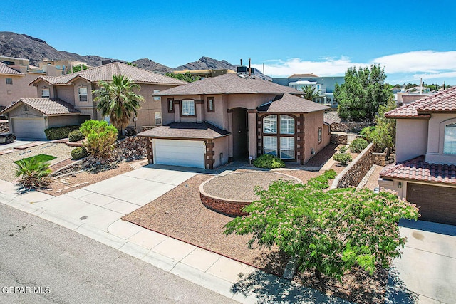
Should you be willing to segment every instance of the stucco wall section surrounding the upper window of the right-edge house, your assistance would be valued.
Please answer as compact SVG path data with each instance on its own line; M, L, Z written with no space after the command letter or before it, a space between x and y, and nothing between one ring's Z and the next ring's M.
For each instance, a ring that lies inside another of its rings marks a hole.
M433 113L429 120L426 162L456 164L456 155L443 154L445 125L456 123L456 114Z

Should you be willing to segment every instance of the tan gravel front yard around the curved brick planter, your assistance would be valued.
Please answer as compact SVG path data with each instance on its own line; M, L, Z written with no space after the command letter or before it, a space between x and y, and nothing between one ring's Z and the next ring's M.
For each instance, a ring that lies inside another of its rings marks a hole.
M284 170L281 173L298 177L304 182L318 175L302 170ZM224 226L232 221L232 217L207 209L199 199L199 185L211 177L198 174L124 216L123 220L281 276L288 261L284 253L277 248L269 250L256 245L248 249L250 236L223 234ZM354 271L344 276L340 283L324 277L318 281L313 273L308 272L296 276L294 281L356 303L383 303L387 275L384 270L379 270L374 276L368 276L364 271Z

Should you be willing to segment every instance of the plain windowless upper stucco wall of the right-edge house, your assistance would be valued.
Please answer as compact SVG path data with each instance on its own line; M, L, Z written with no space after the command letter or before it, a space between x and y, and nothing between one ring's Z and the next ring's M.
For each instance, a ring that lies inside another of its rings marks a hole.
M396 162L426 154L428 120L398 119L396 121Z

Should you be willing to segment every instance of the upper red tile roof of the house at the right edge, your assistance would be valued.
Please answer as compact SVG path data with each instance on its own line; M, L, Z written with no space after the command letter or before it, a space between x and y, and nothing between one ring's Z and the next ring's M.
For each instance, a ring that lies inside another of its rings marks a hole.
M429 117L430 112L456 112L456 87L427 95L413 103L385 113L385 117Z

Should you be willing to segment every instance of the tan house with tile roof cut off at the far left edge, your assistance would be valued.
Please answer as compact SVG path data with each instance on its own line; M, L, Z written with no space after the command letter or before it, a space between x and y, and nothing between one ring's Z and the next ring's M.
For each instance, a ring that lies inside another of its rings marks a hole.
M39 76L57 75L29 65L28 59L0 56L0 110L20 98L36 98L36 88L28 86Z

